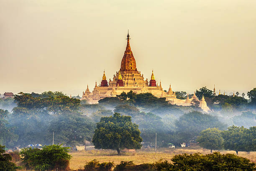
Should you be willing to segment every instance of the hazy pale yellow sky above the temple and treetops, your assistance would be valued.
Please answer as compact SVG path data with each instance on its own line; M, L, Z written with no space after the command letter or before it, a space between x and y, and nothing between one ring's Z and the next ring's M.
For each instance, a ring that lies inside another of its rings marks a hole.
M120 69L174 91L256 87L256 0L0 0L0 93L82 95Z

